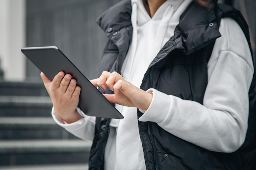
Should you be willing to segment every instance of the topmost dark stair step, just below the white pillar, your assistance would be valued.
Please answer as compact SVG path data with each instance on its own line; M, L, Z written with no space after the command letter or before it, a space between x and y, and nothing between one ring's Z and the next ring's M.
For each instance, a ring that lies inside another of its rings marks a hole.
M5 82L0 81L0 95L48 96L42 81Z

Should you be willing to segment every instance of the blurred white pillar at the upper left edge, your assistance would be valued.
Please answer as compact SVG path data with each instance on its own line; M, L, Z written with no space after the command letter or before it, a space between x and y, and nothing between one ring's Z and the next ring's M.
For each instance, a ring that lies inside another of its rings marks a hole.
M0 0L0 60L4 79L25 79L25 0Z

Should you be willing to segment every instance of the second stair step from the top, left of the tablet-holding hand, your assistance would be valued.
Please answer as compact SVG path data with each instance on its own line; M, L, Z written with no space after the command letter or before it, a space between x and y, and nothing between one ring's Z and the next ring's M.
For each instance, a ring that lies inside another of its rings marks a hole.
M0 117L50 116L52 101L47 96L0 96Z

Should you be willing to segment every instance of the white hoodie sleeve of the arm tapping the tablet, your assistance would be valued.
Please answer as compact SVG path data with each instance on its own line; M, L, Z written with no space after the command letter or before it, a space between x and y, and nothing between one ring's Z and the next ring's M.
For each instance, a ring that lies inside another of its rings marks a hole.
M171 134L216 152L234 152L244 142L249 112L248 91L254 73L243 31L231 18L221 21L208 62L203 105L155 89L139 121L156 122Z

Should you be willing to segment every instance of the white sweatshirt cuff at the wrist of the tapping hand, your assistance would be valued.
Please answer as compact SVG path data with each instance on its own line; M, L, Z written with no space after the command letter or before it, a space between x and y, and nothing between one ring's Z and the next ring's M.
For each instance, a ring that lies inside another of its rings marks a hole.
M153 121L155 123L161 123L166 118L166 114L161 113L169 112L171 108L171 98L168 95L155 90L154 88L147 90L147 92L149 91L153 91L153 99L148 107L148 110L146 110L139 118L139 121ZM143 110L141 111L143 113Z

